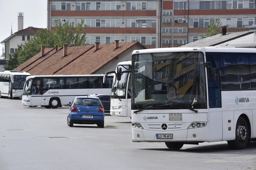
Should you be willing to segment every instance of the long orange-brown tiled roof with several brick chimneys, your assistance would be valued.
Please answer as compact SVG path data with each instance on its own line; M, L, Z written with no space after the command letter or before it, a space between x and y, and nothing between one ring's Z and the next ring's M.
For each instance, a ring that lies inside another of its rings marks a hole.
M111 60L117 58L134 45L140 45L138 41L119 43L115 50L115 43L99 44L95 51L94 45L67 47L67 55L63 57L63 47L58 49L45 49L45 55L41 52L15 68L31 75L60 75L60 74L93 74ZM113 66L115 68L115 66Z

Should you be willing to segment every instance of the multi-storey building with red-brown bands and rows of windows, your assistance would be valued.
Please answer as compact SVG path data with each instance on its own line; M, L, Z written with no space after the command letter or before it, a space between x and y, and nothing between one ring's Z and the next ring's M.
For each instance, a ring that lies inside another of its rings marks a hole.
M86 24L86 43L139 41L147 48L196 41L215 19L228 31L255 24L255 0L48 0L47 28L54 20Z

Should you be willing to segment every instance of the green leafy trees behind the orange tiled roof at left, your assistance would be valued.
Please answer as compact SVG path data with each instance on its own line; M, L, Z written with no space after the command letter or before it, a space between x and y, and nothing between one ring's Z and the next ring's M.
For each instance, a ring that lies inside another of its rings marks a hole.
M63 25L61 22L54 21L55 32L52 30L41 29L36 31L34 37L29 41L25 41L23 44L18 44L18 49L10 55L7 65L4 66L5 70L12 70L20 64L33 57L41 50L41 45L45 45L45 48L53 48L55 45L62 47L64 43L72 46L79 46L85 44L85 26L84 20L78 23L76 28L73 24L65 22Z

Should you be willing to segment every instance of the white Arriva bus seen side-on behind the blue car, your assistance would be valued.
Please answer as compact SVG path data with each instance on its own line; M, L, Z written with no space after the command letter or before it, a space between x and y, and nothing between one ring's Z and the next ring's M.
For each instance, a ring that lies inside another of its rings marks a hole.
M76 96L110 94L113 75L104 74L28 76L22 94L23 106L57 108Z

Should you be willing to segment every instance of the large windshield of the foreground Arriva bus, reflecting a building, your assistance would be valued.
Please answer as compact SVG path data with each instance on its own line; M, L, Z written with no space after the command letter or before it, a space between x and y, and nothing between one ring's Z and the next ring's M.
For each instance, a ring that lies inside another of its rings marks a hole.
M203 52L134 54L132 66L132 110L207 108Z

